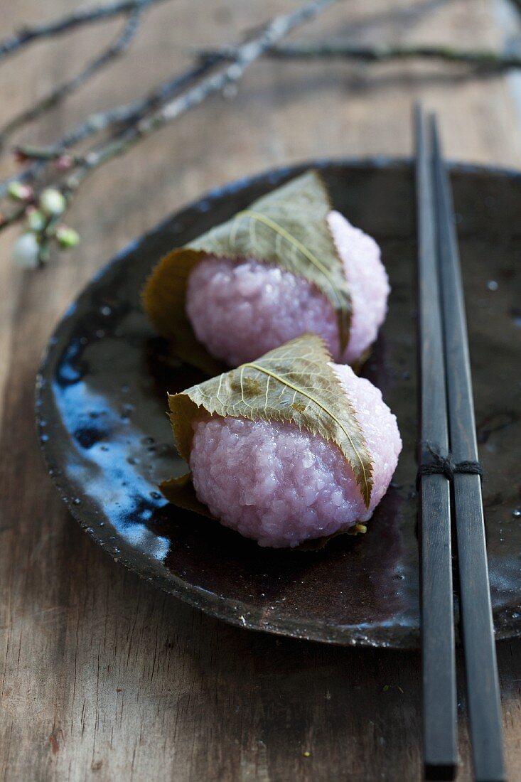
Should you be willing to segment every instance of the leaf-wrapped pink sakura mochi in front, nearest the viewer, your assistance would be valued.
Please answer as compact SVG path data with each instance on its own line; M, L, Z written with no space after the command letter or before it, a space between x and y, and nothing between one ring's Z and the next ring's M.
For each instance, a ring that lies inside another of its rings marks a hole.
M329 359L306 335L171 397L196 501L260 546L365 531L397 466L400 432L379 389ZM164 488L175 502L176 482Z

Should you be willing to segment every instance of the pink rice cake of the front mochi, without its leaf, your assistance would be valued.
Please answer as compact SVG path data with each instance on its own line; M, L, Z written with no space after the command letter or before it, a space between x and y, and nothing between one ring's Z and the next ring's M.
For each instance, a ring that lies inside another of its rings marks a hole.
M190 469L198 499L221 524L260 546L295 547L365 522L401 452L396 416L371 382L332 364L373 463L366 508L340 448L294 424L205 415L194 423Z

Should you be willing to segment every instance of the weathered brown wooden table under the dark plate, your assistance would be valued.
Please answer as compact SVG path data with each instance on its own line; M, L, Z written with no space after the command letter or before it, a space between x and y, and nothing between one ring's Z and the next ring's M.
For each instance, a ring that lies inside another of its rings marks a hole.
M74 0L18 0L2 35ZM171 0L124 60L19 138L49 142L85 110L180 69L187 45L233 41L293 0ZM369 7L368 7L369 6ZM505 2L350 0L303 30L357 41L503 45ZM507 9L508 11L508 9ZM506 15L505 15L506 14ZM120 22L34 45L0 68L2 120L81 68ZM314 156L411 150L411 101L440 113L452 158L521 164L518 76L476 80L435 63L253 66L84 186L81 247L43 273L9 263L2 234L0 775L3 780L418 780L419 654L343 649L238 630L153 590L71 520L45 473L34 373L53 325L129 239L214 185ZM12 169L2 159L1 174ZM511 780L521 779L521 643L498 646ZM465 714L464 694L460 712ZM461 720L464 765L469 744ZM309 756L307 755L309 753Z

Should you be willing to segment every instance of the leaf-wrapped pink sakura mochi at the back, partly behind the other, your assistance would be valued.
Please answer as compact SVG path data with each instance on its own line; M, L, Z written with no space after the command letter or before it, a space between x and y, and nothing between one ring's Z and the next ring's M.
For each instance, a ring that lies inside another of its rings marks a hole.
M215 374L307 332L358 363L389 292L379 246L332 210L310 170L165 256L144 303L178 356Z

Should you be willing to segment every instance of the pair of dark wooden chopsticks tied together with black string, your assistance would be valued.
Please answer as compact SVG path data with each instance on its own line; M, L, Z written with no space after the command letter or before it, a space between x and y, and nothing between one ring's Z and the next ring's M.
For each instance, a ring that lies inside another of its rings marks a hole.
M419 107L415 139L425 773L428 779L453 779L458 763L454 526L474 774L478 782L500 782L506 777L498 667L462 276L437 122Z

